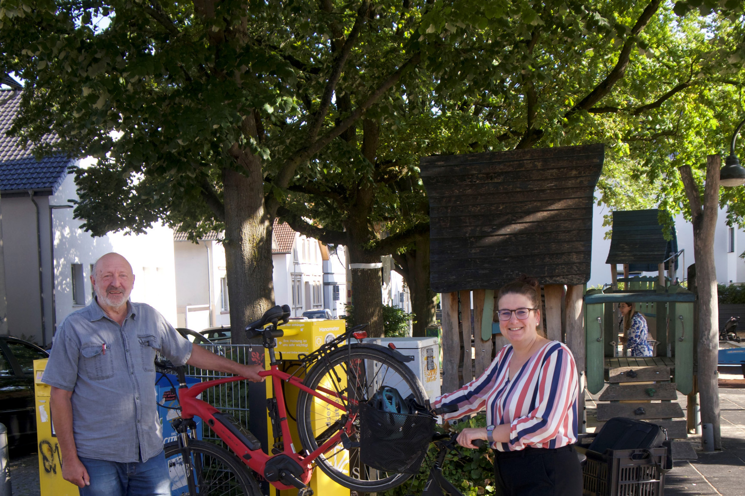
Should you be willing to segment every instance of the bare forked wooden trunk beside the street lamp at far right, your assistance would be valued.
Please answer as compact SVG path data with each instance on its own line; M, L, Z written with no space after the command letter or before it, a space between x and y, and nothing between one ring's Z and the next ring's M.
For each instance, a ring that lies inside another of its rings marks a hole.
M719 306L717 305L717 268L714 265L714 230L719 207L719 155L708 155L703 202L691 167L680 167L685 194L691 204L694 225L694 257L698 290L698 374L701 403L701 423L714 428L714 449L722 448L719 417L719 384L717 363L719 352Z

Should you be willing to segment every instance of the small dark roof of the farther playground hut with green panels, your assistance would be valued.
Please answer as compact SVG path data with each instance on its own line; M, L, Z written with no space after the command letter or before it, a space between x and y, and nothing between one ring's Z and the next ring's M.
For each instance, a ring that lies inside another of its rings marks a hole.
M665 240L659 224L659 210L618 210L613 212L613 233L606 263L628 263L631 270L656 271L657 265L677 250L677 240ZM673 246L674 245L674 246Z

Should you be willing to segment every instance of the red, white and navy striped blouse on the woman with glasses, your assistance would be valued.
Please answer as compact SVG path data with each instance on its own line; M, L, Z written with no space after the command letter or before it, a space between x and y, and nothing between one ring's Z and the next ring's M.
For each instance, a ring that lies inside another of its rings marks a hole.
M510 442L498 451L561 448L577 441L577 366L568 347L549 341L510 379L513 347L499 352L481 376L457 391L439 396L433 408L457 405L443 419L458 419L486 408L486 425L510 424Z

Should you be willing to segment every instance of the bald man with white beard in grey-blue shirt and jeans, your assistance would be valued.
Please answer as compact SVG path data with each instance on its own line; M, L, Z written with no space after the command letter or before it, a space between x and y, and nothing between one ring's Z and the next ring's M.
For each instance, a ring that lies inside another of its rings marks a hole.
M156 411L156 350L174 364L263 381L242 365L191 344L153 307L129 301L135 277L119 254L95 263L95 300L60 324L42 381L62 474L80 495L171 495Z

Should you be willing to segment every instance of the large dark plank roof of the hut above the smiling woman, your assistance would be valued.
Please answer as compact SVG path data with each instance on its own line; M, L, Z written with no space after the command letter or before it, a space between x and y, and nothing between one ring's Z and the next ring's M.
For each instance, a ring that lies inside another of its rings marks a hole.
M590 278L593 192L603 145L421 159L434 292Z

